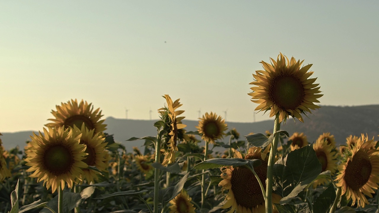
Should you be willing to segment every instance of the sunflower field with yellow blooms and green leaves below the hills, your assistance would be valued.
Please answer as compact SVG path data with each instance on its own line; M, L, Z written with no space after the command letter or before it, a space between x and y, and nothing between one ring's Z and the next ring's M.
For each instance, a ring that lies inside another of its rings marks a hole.
M0 212L378 213L378 141L362 133L336 146L332 133L280 130L290 117L307 122L323 94L312 64L282 53L261 63L248 95L275 118L272 133L240 136L213 112L187 132L185 106L164 95L157 135L125 138L144 141L133 150L85 100L56 105L24 149L5 150L0 134Z

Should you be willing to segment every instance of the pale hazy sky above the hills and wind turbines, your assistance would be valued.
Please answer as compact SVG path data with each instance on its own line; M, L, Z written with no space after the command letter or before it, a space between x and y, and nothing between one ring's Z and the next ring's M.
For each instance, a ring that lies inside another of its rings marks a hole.
M378 1L1 1L0 132L42 130L55 105L104 117L253 121L252 74L279 52L313 64L321 105L379 103ZM166 41L166 42L165 42ZM257 121L269 119L257 114Z

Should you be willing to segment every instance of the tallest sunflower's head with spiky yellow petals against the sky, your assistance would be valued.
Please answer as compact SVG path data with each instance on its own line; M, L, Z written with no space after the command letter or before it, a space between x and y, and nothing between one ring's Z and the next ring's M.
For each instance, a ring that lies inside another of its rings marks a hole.
M314 102L319 102L317 99L323 96L318 94L321 92L318 84L313 84L317 78L309 78L313 72L307 71L312 64L301 67L304 60L296 61L294 57L288 60L282 53L276 61L270 59L271 64L260 62L264 70L255 71L255 81L250 83L254 85L249 93L251 101L259 103L255 110L271 109L270 117L279 113L279 122L285 122L288 116L304 122L301 114L320 108Z

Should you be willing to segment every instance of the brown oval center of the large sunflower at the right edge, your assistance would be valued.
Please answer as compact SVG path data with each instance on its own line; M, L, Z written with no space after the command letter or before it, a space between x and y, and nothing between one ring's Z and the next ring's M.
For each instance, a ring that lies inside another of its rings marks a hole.
M359 150L348 162L343 178L346 185L353 190L359 190L370 179L372 165L367 153Z

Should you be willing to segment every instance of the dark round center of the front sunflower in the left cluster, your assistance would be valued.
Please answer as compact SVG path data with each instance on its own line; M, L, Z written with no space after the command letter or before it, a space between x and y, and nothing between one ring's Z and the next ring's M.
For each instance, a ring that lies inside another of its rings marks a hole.
M56 176L70 171L73 163L74 157L70 148L64 144L52 144L42 154L44 168Z

